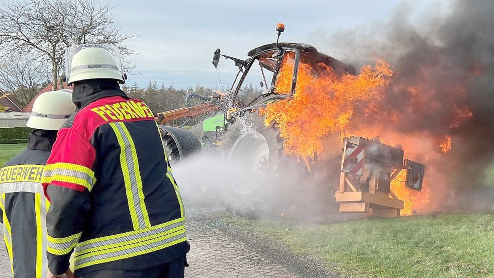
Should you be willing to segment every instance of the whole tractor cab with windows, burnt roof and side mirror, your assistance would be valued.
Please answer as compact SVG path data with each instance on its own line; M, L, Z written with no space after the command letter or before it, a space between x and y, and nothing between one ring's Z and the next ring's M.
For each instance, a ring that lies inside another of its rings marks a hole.
M213 64L218 66L220 56L231 59L239 71L229 92L230 103L239 108L258 104L264 98L277 95L275 99L286 98L297 90L297 76L302 64L313 69L322 64L333 68L336 74L355 74L352 65L345 64L331 56L317 51L309 44L271 43L252 49L250 58L241 60L223 55L220 49L215 51ZM280 96L281 95L281 96Z

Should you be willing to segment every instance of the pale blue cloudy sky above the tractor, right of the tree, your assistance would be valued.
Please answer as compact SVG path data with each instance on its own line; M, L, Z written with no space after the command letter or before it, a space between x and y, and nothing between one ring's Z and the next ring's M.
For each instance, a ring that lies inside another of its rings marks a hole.
M247 52L276 40L275 26L285 24L280 41L309 43L332 55L323 36L387 21L402 1L314 0L216 0L141 1L109 0L114 21L138 36L127 44L138 53L128 83L145 86L155 81L165 86L221 88L212 65L213 52L247 58ZM414 2L426 9L427 0ZM338 58L336 56L336 58ZM220 60L218 72L224 86L236 73L229 60Z

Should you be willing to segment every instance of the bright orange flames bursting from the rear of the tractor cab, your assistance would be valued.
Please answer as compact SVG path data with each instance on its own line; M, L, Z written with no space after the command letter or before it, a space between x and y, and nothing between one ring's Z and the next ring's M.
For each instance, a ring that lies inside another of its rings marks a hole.
M277 91L289 92L293 59L286 55L276 80ZM357 76L337 76L324 63L313 67L301 63L297 94L293 98L269 104L262 114L266 124L275 121L285 139L288 155L314 158L323 151L322 136L340 132L349 123L356 106L371 111L379 102L379 88L389 84L392 71L384 61L374 67L364 66ZM279 87L278 87L279 86Z

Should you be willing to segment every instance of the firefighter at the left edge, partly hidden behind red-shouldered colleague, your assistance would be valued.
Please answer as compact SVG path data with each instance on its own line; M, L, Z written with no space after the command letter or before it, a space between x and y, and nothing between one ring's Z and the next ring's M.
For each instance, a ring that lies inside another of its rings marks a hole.
M45 217L49 204L41 177L57 131L74 113L70 92L40 95L27 122L32 128L27 149L0 169L0 221L14 277L47 275Z

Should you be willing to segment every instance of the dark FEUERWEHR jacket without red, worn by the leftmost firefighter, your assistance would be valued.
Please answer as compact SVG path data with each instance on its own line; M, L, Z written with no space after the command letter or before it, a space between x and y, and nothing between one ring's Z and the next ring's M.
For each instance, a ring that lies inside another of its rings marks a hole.
M46 277L45 218L49 204L41 177L56 134L34 129L28 148L0 169L0 221L16 278Z

